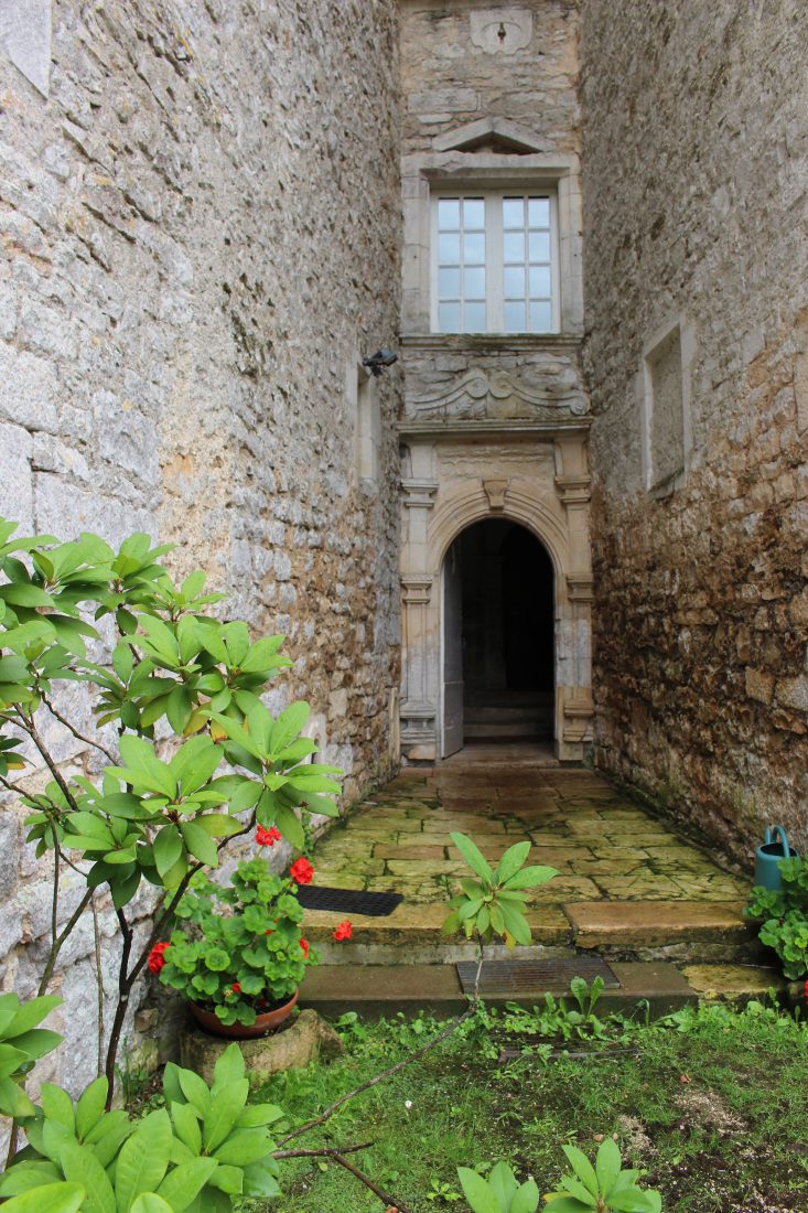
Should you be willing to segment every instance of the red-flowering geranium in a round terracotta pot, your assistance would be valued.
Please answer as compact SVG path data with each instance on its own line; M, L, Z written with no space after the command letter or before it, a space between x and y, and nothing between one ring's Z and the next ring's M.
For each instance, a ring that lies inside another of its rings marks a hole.
M278 1027L306 967L319 958L302 935L295 896L311 879L306 859L289 876L275 876L263 859L243 860L224 887L198 872L176 909L188 926L153 947L149 968L184 993L207 1031L244 1040Z

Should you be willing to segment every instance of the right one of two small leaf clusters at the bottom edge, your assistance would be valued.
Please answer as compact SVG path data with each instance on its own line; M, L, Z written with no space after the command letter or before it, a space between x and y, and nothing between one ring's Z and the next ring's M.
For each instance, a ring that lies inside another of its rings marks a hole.
M563 1146L570 1172L545 1196L548 1213L661 1213L659 1192L637 1186L639 1171L622 1169L620 1150L604 1138L594 1166L577 1146Z

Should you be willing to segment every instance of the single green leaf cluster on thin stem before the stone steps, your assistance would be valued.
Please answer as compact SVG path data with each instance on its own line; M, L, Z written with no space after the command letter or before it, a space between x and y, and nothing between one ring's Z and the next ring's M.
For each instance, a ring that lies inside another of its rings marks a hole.
M443 934L454 935L462 928L468 939L477 934L480 944L490 944L494 935L499 935L510 949L529 944L530 927L524 912L528 895L523 890L546 884L558 875L557 870L525 867L529 842L508 847L493 869L466 835L453 833L451 841L477 879L460 882L462 893L449 902L450 913L443 924Z

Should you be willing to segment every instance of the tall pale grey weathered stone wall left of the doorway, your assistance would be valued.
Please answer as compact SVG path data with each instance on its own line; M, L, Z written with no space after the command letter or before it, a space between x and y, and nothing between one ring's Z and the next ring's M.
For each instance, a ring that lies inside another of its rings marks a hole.
M57 0L47 97L0 47L0 512L173 541L229 616L288 633L273 706L312 701L348 798L389 770L398 683L396 370L372 480L355 459L358 363L398 315L396 8ZM49 882L21 816L0 952L29 995ZM59 978L74 1086L91 952L87 921Z

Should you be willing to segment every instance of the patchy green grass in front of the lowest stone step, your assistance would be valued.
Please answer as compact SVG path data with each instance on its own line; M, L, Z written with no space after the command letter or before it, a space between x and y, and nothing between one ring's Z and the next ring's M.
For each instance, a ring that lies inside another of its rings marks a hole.
M808 1208L808 1030L774 1008L716 1006L630 1024L556 1006L483 1013L467 1027L295 1144L372 1141L354 1161L412 1213L463 1213L456 1167L485 1171L500 1158L550 1191L565 1171L561 1146L592 1156L605 1133L647 1172L665 1213ZM279 1075L256 1098L303 1123L437 1029L426 1019L348 1023L345 1057ZM503 1048L519 1055L502 1061ZM284 1195L245 1202L245 1213L381 1213L335 1163L281 1166Z

